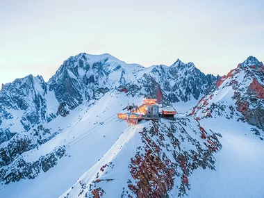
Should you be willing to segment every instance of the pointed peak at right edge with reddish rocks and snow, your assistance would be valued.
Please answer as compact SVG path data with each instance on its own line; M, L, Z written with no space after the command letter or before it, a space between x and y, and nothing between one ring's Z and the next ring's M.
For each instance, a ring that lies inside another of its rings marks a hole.
M217 90L192 110L197 119L222 116L240 119L264 131L264 67L249 56L217 81Z

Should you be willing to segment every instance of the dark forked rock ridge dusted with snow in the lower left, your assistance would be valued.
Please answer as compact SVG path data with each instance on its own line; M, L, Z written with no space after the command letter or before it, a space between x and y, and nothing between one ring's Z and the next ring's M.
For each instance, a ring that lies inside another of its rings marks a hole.
M17 133L6 144L3 143L0 148L0 181L8 184L20 179L34 179L41 170L47 172L55 166L58 159L65 154L64 147L55 147L48 154L30 162L27 162L22 154L38 149L40 145L48 142L57 134L58 132L51 133L49 129L44 129L42 125L38 125L36 129Z

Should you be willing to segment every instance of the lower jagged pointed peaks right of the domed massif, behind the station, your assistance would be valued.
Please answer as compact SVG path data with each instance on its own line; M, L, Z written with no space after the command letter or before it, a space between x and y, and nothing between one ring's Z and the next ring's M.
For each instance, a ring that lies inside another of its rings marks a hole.
M145 97L156 98L157 92L160 92L163 103L170 104L199 99L215 90L217 79L220 76L205 75L193 63L185 64L178 59L170 67L154 65L147 68L147 72L138 74L127 87L132 95L138 90Z

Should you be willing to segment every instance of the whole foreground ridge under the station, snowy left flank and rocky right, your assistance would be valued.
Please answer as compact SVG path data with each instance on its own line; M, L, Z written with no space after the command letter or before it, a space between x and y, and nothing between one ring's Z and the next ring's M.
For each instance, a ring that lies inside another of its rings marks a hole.
M182 197L198 167L215 169L219 134L195 119L130 126L61 197ZM217 138L218 137L218 138Z

